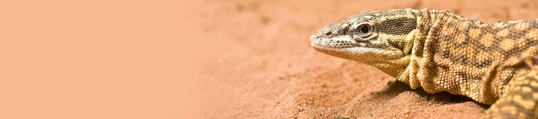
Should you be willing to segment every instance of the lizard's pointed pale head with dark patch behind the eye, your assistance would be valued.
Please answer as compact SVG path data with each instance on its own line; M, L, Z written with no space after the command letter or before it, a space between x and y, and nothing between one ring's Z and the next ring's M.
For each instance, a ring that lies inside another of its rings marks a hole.
M412 48L416 17L411 9L360 12L324 27L310 44L324 54L358 62L391 62Z

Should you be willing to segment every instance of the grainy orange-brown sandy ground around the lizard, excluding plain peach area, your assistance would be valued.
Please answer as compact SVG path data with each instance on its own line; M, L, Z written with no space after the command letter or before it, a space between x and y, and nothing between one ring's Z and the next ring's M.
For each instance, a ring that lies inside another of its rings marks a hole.
M538 18L538 1L201 1L189 11L199 118L477 118L489 106L412 90L314 50L309 36L360 11L442 9L494 23Z

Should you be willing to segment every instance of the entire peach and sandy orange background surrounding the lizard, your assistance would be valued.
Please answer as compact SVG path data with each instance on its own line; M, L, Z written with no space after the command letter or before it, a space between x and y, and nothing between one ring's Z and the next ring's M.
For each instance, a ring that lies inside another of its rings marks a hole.
M395 8L538 16L534 0L2 1L0 119L482 115L309 44L353 13Z

